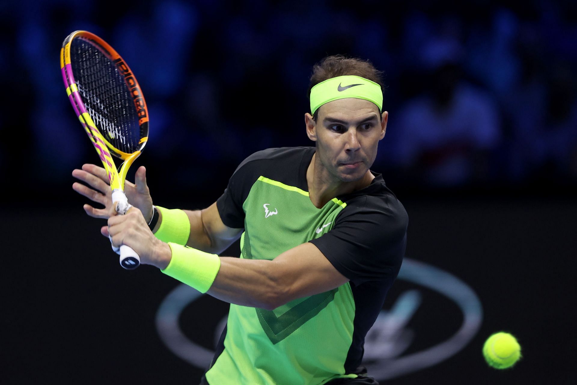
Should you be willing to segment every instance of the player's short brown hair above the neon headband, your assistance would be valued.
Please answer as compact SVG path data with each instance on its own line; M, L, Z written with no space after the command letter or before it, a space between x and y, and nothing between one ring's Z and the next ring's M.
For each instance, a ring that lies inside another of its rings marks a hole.
M384 90L383 71L374 68L373 63L358 58L347 58L343 55L331 55L322 59L313 66L309 89L306 93L310 99L310 90L321 81L343 75L356 75L374 81ZM313 119L319 117L319 110L314 111Z

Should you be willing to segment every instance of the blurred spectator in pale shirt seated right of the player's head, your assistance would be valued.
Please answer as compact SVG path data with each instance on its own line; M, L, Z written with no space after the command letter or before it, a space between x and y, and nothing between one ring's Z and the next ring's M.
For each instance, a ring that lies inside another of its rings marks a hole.
M430 39L421 50L430 83L391 118L398 126L392 158L409 177L434 187L485 180L490 150L500 141L497 107L462 79L462 56L456 39Z

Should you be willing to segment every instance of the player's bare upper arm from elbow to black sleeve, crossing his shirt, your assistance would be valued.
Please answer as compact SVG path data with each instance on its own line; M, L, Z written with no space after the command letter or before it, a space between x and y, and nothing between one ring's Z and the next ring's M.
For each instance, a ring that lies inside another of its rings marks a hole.
M284 303L324 293L349 281L310 242L280 254L273 263L276 279L284 287Z

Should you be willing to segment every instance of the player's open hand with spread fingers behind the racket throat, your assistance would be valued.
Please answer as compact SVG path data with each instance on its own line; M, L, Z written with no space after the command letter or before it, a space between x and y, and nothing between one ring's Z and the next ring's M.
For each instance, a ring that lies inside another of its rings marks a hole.
M104 205L104 208L95 208L85 204L84 211L94 218L108 219L113 202L110 181L106 170L96 165L83 165L81 170L73 170L72 176L86 184L74 182L72 185L74 191L96 203ZM136 184L125 181L124 192L129 203L134 207L138 207L138 210L143 213L144 219L148 223L152 218L152 198L146 183L146 169L144 166L138 167L134 178Z

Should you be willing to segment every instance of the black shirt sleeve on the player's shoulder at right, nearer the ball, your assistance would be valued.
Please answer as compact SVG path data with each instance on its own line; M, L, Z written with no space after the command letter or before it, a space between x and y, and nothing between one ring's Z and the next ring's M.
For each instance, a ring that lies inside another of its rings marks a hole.
M406 248L408 222L395 197L365 196L347 203L335 226L309 242L355 285L395 279Z

